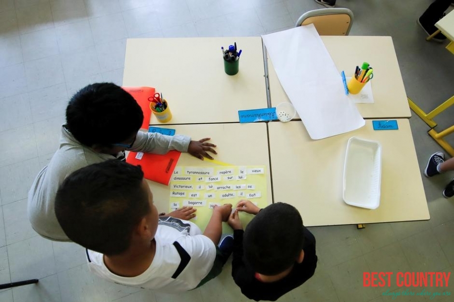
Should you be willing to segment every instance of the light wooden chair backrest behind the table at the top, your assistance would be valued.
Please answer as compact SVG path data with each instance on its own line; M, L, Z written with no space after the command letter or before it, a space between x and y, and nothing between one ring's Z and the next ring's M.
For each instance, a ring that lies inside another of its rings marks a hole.
M345 8L319 9L304 13L295 27L314 24L321 36L348 36L353 24L353 12Z

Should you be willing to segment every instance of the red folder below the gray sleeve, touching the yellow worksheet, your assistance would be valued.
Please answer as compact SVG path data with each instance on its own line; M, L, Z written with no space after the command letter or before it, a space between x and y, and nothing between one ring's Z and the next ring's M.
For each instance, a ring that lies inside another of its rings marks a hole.
M137 159L137 152L129 152L126 162L140 165L146 179L168 186L180 155L180 151L173 150L163 155L143 153L142 159Z

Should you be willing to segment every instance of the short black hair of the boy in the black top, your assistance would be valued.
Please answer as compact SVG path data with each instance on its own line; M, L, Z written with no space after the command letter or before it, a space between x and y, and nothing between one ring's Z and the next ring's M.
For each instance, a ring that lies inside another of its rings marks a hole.
M304 226L298 210L286 203L262 209L244 232L246 262L255 272L277 275L298 259L304 244Z

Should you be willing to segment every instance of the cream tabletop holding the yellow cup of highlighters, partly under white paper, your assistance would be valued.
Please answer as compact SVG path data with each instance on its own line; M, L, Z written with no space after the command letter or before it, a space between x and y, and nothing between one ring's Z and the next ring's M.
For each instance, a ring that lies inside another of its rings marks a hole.
M321 36L335 66L350 77L355 67L368 62L374 69L371 81L373 104L357 104L364 118L411 117L404 82L391 37ZM289 102L277 78L271 59L267 57L271 106ZM299 118L297 114L296 118Z

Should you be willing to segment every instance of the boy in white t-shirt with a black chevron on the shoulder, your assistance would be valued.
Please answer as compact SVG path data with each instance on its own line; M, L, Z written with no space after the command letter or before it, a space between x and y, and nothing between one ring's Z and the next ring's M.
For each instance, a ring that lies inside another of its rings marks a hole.
M196 288L217 276L233 238L220 245L232 205L215 207L202 232L192 222L159 217L140 167L119 160L70 174L55 199L68 237L87 248L89 268L109 281L161 292Z

